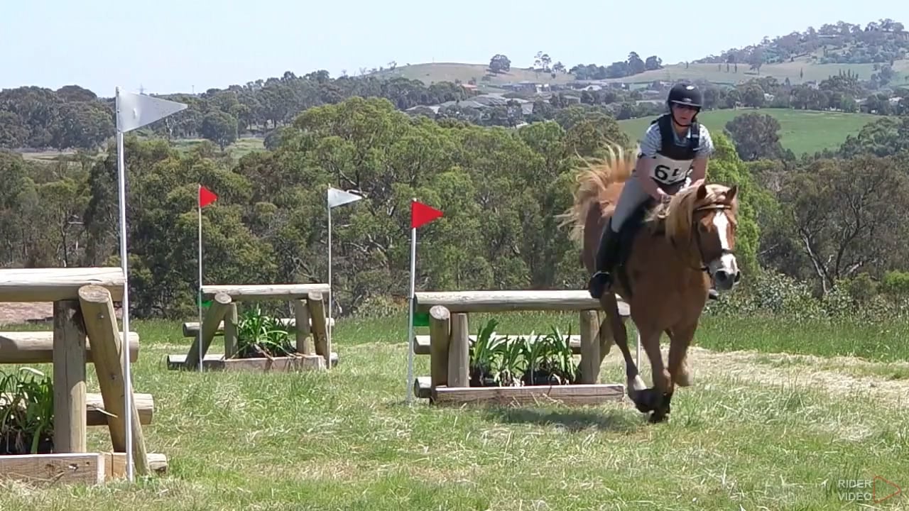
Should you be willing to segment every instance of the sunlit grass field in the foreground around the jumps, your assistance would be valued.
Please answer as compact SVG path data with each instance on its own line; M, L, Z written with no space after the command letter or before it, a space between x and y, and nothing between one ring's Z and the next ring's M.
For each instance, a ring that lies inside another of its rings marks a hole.
M576 321L499 317L501 333ZM169 474L133 487L3 482L0 509L804 511L859 508L841 500L841 479L909 487L903 324L705 318L694 386L658 426L628 403L405 406L405 318L340 320L341 361L322 374L168 371L165 355L189 346L179 324L133 325L135 389L155 396L146 443L168 456ZM415 374L428 374L428 356L416 356ZM601 380L624 380L616 349ZM90 444L109 448L104 428L92 428Z

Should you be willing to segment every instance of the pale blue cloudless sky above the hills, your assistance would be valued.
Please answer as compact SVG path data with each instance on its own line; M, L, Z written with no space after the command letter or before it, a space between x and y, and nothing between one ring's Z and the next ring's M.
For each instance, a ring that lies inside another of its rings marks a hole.
M840 20L909 27L909 3L896 0L0 2L0 89L81 85L102 96L116 86L203 92L285 71L355 75L391 61L485 64L499 53L522 67L537 51L567 67L631 51L674 64Z

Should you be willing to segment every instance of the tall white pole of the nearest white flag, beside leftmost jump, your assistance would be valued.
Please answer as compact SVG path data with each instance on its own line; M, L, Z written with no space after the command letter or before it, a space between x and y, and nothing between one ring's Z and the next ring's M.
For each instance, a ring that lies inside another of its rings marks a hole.
M116 87L116 110L119 117L120 113L120 87ZM118 123L119 124L119 123ZM131 377L131 364L129 361L129 273L126 262L126 170L123 131L118 126L116 130L116 169L117 169L117 195L120 209L120 267L123 269L123 301L121 310L123 311L123 331L120 333L123 352L123 379L124 379L124 427L126 437L126 478L133 482L133 414L131 410L133 397L133 380Z

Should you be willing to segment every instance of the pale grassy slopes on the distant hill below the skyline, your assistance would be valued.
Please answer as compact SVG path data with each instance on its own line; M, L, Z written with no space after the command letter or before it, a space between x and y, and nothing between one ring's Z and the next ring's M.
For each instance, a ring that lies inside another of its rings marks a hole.
M556 75L553 78L545 73L535 73L512 67L511 71L502 75L494 75L489 82L481 82L480 79L486 74L486 64L461 64L454 62L434 63L434 64L415 64L399 65L395 71L383 71L377 73L379 76L398 75L406 78L421 80L425 84L433 82L461 80L465 84L471 79L477 80L477 85L501 85L509 82L519 82L522 80L531 80L544 84L564 84L574 81L573 75ZM570 67L570 66L569 66ZM640 75L625 76L622 78L611 78L609 82L628 82L628 83L650 83L655 80L674 81L678 79L702 79L716 84L734 85L739 82L745 82L752 78L760 76L774 76L780 82L786 78L798 85L807 81L821 81L831 75L836 75L840 71L846 72L851 70L857 73L860 78L867 80L874 73L874 64L813 64L808 57L796 59L794 62L785 62L782 64L764 65L758 74L755 71L749 71L748 65L739 65L738 73L726 73L725 65L722 69L717 69L715 64L692 64L686 68L684 63L664 65L663 69L655 71L646 71ZM898 60L894 62L894 85L909 85L906 81L909 78L909 60ZM799 76L804 73L804 76Z

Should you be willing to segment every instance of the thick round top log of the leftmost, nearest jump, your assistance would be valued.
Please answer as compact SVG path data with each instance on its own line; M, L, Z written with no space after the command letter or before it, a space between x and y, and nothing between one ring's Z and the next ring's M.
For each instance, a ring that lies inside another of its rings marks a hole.
M102 286L115 302L123 299L121 268L3 268L0 302L55 302L76 300L79 288Z

